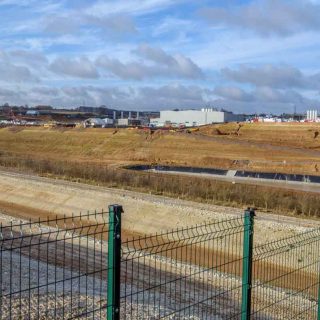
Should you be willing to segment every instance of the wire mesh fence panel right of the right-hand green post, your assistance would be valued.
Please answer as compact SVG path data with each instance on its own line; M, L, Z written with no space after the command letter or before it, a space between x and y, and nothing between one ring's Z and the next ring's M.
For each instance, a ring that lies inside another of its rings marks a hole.
M252 319L317 319L320 229L258 245Z

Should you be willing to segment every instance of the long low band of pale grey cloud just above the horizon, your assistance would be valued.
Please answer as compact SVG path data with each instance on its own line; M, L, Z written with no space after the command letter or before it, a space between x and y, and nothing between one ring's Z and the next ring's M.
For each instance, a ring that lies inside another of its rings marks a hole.
M107 105L112 108L159 110L173 108L201 108L210 104L234 112L292 112L293 106L304 111L304 106L317 106L315 99L292 90L275 90L259 87L244 91L237 87L219 87L209 90L195 85L171 83L164 86L62 86L30 87L28 90L0 89L4 102L36 105L51 104L56 107L76 107L85 101L87 105ZM1 103L0 101L0 103Z

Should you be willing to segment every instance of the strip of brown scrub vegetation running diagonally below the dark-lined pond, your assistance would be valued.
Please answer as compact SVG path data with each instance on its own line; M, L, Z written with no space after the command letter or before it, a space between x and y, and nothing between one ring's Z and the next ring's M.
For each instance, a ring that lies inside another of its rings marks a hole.
M0 157L0 165L42 176L186 200L236 207L251 206L278 213L320 217L320 197L316 193L232 184L202 177L133 172L93 163L22 159L8 155Z

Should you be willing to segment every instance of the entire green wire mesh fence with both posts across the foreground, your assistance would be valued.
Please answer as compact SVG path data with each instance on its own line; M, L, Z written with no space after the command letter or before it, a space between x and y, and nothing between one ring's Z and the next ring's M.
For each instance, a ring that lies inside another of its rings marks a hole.
M320 229L255 244L246 210L121 239L122 211L0 224L0 319L320 319Z

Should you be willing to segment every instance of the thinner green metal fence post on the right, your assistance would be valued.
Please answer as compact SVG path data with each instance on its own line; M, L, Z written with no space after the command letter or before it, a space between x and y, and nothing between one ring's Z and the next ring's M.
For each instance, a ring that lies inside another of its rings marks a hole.
M252 284L253 223L255 212L248 208L244 213L243 257L242 257L242 304L241 320L250 320Z

